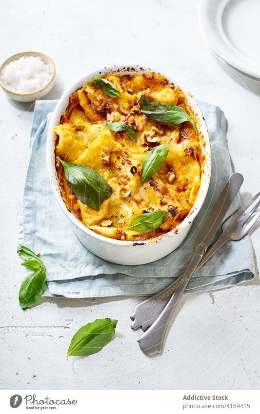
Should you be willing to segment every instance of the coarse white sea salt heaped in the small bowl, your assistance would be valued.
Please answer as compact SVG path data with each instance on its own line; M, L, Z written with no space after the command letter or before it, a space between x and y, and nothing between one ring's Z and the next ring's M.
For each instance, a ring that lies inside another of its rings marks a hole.
M38 56L21 56L8 63L1 74L4 86L18 94L43 88L51 79L51 67Z

